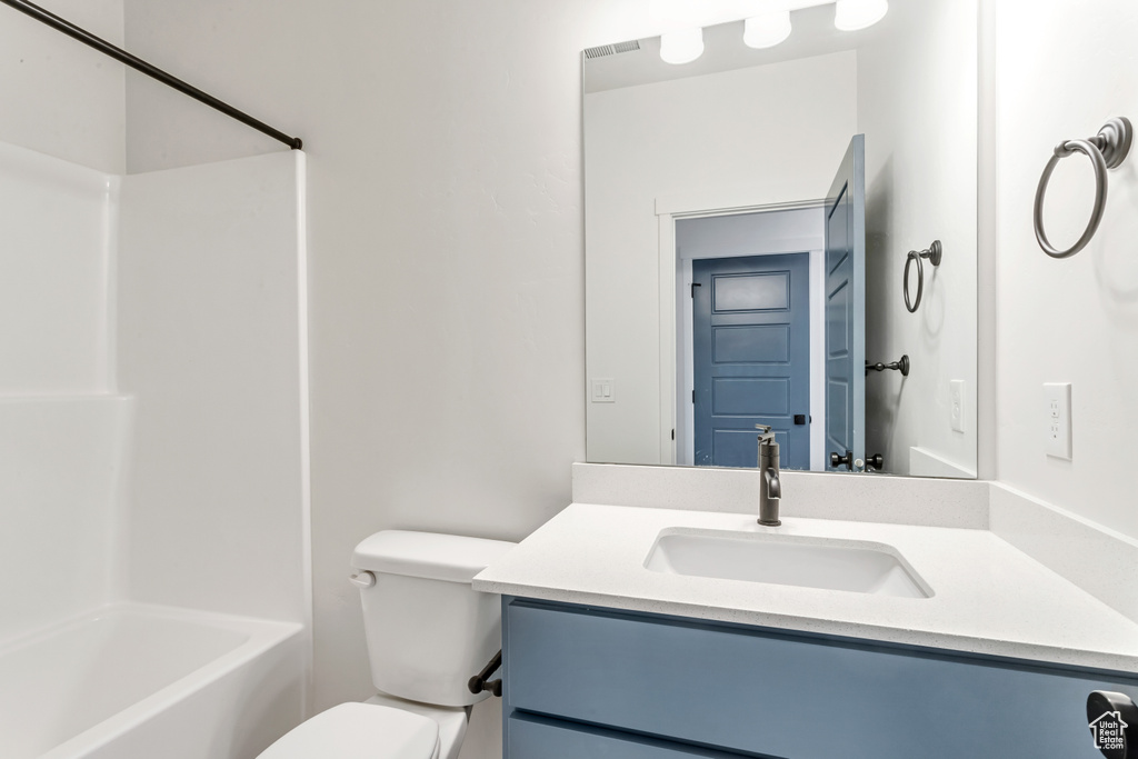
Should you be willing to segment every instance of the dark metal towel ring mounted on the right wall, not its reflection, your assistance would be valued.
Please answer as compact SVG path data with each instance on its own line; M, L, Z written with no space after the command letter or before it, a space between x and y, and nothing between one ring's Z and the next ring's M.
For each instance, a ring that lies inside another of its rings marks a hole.
M1112 118L1098 131L1098 134L1088 140L1066 140L1055 146L1055 155L1047 162L1044 175L1039 178L1039 187L1036 189L1036 241L1052 258L1066 258L1073 256L1090 242L1098 231L1098 225L1103 221L1103 212L1106 211L1106 170L1118 167L1127 154L1130 152L1130 142L1133 139L1133 127L1130 119L1124 116ZM1052 179L1052 172L1059 160L1075 152L1081 152L1090 158L1095 167L1095 208L1090 213L1090 223L1083 231L1082 237L1069 249L1058 250L1047 239L1044 232L1044 195L1047 192L1047 182Z

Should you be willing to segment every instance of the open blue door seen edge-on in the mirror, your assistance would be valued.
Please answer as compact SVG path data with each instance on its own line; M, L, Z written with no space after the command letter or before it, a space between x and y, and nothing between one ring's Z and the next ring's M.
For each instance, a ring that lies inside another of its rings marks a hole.
M850 142L826 198L826 468L834 469L830 453L865 459L864 134Z

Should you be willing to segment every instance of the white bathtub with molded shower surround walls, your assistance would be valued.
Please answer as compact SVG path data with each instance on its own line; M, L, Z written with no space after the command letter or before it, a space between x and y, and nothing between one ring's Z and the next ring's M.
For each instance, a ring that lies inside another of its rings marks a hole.
M0 143L0 757L240 759L311 673L304 155Z

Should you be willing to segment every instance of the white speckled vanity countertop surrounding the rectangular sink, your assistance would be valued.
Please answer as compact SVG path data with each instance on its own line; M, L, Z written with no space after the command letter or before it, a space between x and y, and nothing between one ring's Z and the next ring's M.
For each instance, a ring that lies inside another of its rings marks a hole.
M931 586L904 599L651 571L660 530L885 543ZM473 580L488 593L1138 673L1138 625L987 530L575 503Z

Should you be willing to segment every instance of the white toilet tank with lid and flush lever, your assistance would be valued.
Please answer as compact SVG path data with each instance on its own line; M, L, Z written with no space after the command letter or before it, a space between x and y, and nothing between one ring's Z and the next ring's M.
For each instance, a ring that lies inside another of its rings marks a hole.
M444 707L487 698L471 693L467 682L502 646L501 596L479 593L470 581L513 545L387 530L356 546L353 583L360 586L376 687Z

